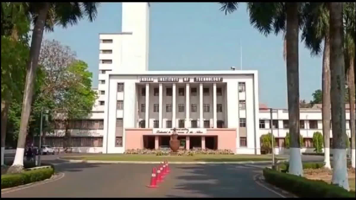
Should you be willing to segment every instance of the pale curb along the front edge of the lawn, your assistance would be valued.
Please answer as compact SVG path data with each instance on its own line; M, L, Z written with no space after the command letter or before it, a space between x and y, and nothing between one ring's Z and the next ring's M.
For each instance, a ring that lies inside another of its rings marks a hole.
M72 156L71 156L72 157ZM57 158L58 160L65 160L69 163L91 163L91 164L160 164L159 161L106 161L106 160L76 160L66 159L66 157ZM278 160L277 163L287 162L288 159ZM241 161L241 162L169 162L169 164L271 164L272 161Z

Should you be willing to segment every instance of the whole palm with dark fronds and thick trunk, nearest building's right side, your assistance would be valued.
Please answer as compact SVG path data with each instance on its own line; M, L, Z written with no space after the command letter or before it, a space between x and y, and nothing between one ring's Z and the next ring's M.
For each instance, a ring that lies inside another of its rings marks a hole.
M231 13L237 2L220 2L220 10ZM302 4L298 2L248 2L250 23L265 36L286 32L287 93L290 133L289 173L303 175L299 142L299 56L298 33L302 25Z

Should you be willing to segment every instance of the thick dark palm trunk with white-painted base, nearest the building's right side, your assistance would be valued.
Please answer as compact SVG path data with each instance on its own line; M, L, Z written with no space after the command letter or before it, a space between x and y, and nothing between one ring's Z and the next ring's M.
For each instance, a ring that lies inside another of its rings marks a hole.
M290 133L289 173L303 175L299 142L298 2L287 2L287 92Z

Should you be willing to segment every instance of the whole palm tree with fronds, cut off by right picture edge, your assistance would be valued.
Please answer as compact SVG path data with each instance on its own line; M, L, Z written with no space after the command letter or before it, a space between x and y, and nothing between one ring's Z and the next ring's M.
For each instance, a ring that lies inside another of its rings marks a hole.
M355 2L345 2L344 10L344 58L349 91L351 166L355 168Z

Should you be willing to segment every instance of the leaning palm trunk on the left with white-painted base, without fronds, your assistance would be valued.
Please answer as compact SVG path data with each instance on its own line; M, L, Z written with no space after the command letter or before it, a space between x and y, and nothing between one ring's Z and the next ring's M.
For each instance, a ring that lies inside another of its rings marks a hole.
M38 56L40 54L41 42L43 37L43 30L45 29L45 21L47 12L49 10L49 2L42 4L43 6L38 10L38 17L35 27L32 32L32 41L30 48L30 58L27 63L25 89L23 91L21 121L19 139L17 140L17 149L14 163L9 169L11 172L22 170L23 168L23 153L25 151L25 140L28 125L28 118L30 117L31 103L33 97L33 89L35 83L35 72L38 65ZM17 166L17 167L15 167Z

